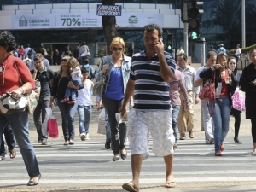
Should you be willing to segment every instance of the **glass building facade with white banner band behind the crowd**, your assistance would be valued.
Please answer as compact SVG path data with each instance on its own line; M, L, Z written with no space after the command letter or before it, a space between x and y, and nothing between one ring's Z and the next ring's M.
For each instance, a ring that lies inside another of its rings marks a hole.
M201 37L206 39L206 50L211 44L216 49L218 44L224 44L226 49L235 49L236 44L241 44L241 0L201 1L204 2L201 8L204 13L200 15L200 32ZM133 49L135 53L144 49L142 27L149 21L157 22L163 27L164 41L167 34L172 33L172 49L183 46L183 23L180 21L179 0L117 2L116 4L122 6L122 16L116 17L116 27L119 36L125 39L127 50ZM93 56L102 57L107 53L101 17L96 16L96 5L102 3L100 0L2 0L1 3L0 21L3 25L0 26L0 30L11 31L15 35L17 44L31 44L34 48L44 44L50 56L53 47L61 51L68 45L72 51L75 44L85 41L90 46ZM66 20L62 15L67 16ZM80 17L73 18L72 15L80 15ZM247 46L256 44L256 20L253 20L255 16L256 5L253 0L247 0ZM90 18L87 26L83 18L87 21ZM37 23L37 20L43 21ZM55 26L49 26L51 25L47 22L49 20L55 20L52 24ZM26 22L30 26L19 26L26 25ZM189 55L195 62L200 62L201 44L189 42ZM93 62L92 59L91 63Z

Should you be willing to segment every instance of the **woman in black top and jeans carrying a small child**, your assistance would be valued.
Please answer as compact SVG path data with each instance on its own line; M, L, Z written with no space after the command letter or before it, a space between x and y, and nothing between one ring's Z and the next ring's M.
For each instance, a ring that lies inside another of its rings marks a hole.
M70 57L67 55L63 55L61 59L61 69L53 79L53 86L49 101L49 108L52 108L52 102L54 100L55 102L57 102L57 105L60 108L62 119L62 131L65 139L64 145L66 146L74 144L74 115L78 108L78 104L77 102L73 104L67 104L67 102L61 102L61 100L64 99L67 86L76 90L84 88L84 84L81 84L81 86L75 86L72 83L70 68L67 66L67 62L69 59ZM76 97L78 97L78 92L76 93Z

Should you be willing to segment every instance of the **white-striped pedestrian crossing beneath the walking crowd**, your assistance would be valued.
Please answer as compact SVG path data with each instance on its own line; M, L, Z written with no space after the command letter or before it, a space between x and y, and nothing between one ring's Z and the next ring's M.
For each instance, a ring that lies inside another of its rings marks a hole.
M200 148L195 143L201 143ZM247 151L235 151L234 143L227 144L224 156L214 156L214 145L204 143L203 139L185 140L178 143L174 152L174 176L178 183L189 182L255 182L255 157ZM150 157L143 160L141 183L165 183L165 165L162 157L156 157L152 152L152 141L149 142ZM104 148L103 140L78 141L73 146L63 146L55 140L42 146L34 143L38 164L42 173L40 183L43 184L116 184L125 183L131 179L130 149L127 148L127 160L112 161L113 152ZM236 154L237 156L233 156ZM225 156L226 155L226 156ZM192 157L192 158L189 158ZM189 158L189 160L188 160ZM189 162L189 163L188 163ZM17 148L14 160L1 162L0 186L24 184L26 167ZM196 165L190 171L187 168ZM10 172L9 166L14 171ZM179 168L182 167L180 171ZM236 167L236 169L234 169ZM119 172L122 168L124 172ZM70 172L70 169L73 169ZM178 169L179 171L176 171ZM162 170L162 171L160 171ZM4 172L2 174L2 172ZM112 178L114 175L114 179ZM216 176L219 177L216 177ZM239 176L239 177L234 177ZM58 179L56 179L58 178Z

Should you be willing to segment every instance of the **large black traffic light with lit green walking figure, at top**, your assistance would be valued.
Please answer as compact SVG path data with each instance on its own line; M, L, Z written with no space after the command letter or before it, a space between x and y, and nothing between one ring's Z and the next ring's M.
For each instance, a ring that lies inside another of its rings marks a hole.
M199 27L200 27L200 22L199 22L199 14L203 13L202 10L198 9L198 5L202 5L203 2L197 2L196 0L191 0L190 1L192 4L192 7L189 8L188 11L188 18L189 18L189 38L190 40L198 40L200 38L199 35Z

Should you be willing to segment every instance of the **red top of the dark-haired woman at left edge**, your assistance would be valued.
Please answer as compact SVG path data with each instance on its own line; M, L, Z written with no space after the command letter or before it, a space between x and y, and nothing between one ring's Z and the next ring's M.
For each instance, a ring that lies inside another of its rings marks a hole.
M5 68L3 69L3 72L0 72L0 96L2 96L8 91L10 92L20 87L20 79L19 79L17 70L15 68L15 61L16 61L16 66L19 70L20 78L23 84L30 82L30 84L32 84L32 90L35 89L34 80L32 79L32 75L28 67L26 67L25 62L22 61L20 58L16 57L15 59L13 55L9 55L6 61L3 61L3 65L5 66ZM3 83L3 76L4 76L4 83Z

